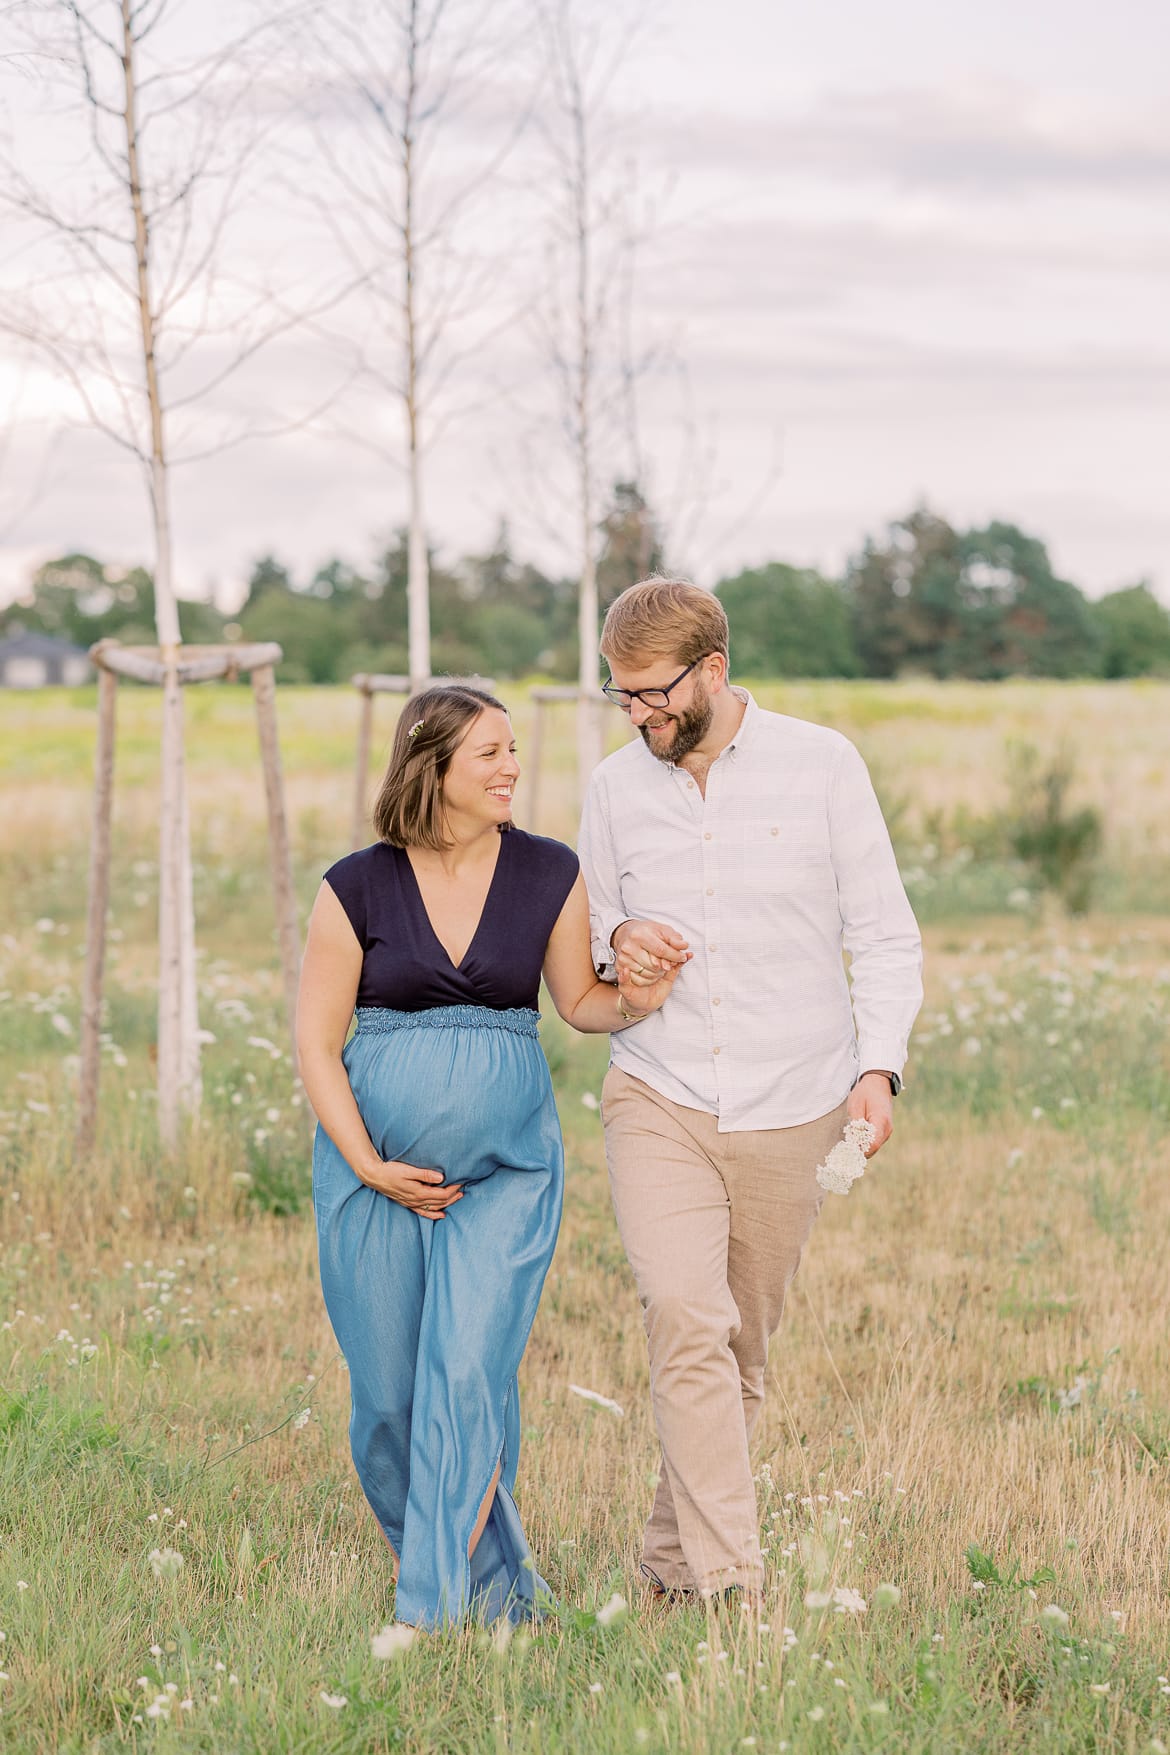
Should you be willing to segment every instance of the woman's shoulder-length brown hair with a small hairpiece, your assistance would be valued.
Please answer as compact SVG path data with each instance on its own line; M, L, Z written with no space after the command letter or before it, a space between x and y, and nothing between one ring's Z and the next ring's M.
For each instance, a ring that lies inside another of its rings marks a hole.
M402 709L389 763L374 804L374 830L393 848L447 846L442 832L442 777L451 756L484 707L502 700L465 683L424 688Z

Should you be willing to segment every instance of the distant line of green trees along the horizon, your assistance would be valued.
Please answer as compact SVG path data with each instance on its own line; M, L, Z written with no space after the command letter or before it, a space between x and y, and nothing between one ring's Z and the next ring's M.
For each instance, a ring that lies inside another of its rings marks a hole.
M661 537L633 483L617 483L602 519L602 612L663 567ZM279 641L286 683L339 683L358 670L407 670L409 544L402 532L367 569L330 560L296 579L256 562L233 618L182 600L188 642ZM500 526L486 555L446 567L432 555L435 674L577 674L577 581L554 579L510 548ZM1086 598L1052 572L1044 542L1016 525L956 530L919 509L868 541L844 577L770 562L716 584L740 676L789 677L1131 677L1170 676L1170 611L1147 584ZM40 567L0 612L79 646L154 642L149 572L114 574L88 555Z

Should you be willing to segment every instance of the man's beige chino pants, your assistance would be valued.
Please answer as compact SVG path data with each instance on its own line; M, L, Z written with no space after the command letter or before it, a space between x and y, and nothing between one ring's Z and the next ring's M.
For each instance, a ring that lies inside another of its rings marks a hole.
M668 1588L758 1590L747 1446L768 1339L824 1199L816 1167L845 1104L802 1127L719 1134L714 1114L610 1067L602 1120L663 1453L642 1564Z

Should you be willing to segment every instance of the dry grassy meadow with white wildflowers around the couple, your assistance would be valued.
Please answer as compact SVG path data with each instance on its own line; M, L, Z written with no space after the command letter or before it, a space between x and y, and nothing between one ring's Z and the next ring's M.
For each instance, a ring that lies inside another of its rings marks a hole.
M524 691L507 693L523 762ZM468 1632L391 1662L370 1653L393 1587L316 1281L249 697L189 697L212 1039L202 1120L167 1164L158 700L123 693L86 1167L70 1128L93 697L0 697L0 1746L1170 1748L1170 688L760 695L856 739L928 921L898 1134L828 1199L774 1346L767 1625L640 1595L658 1457L596 1116L605 1044L551 1018L568 1193L517 1497L563 1608L535 1637ZM354 728L347 691L281 698L305 907L347 846ZM988 853L1010 741L1067 744L1102 813L1084 916ZM539 827L567 837L568 769L561 723ZM182 1564L156 1576L167 1550ZM628 1615L598 1620L614 1594Z

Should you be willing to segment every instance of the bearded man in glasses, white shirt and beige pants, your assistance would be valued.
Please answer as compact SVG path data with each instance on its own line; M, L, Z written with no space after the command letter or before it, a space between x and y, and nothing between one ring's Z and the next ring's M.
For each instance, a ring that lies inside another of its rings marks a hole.
M921 941L865 763L728 681L710 593L612 604L605 693L639 737L595 770L581 865L602 972L670 1002L614 1037L602 1092L646 1313L661 1471L642 1572L663 1595L763 1587L747 1446L768 1337L845 1120L889 1139ZM851 956L845 978L842 949Z

